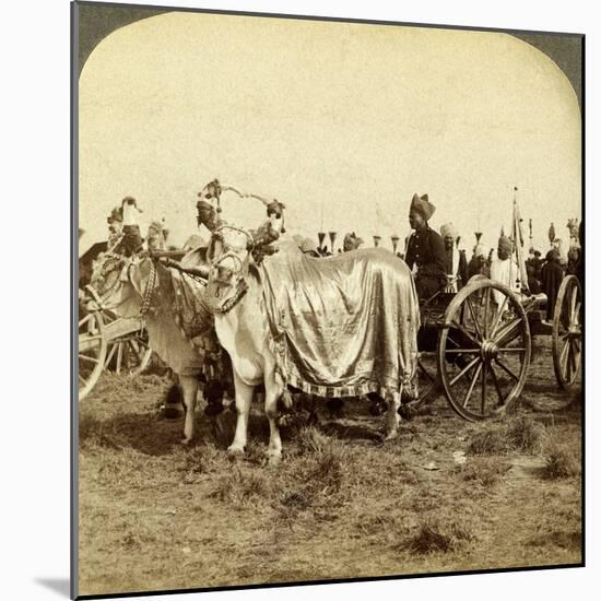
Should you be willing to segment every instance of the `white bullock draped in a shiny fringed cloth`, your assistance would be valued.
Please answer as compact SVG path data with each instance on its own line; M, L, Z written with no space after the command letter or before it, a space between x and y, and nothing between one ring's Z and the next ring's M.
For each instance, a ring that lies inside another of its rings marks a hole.
M257 237L222 223L208 250L205 300L234 372L238 421L229 450L244 452L261 384L271 463L282 455L278 401L290 399L287 385L319 397L387 397L385 436L394 437L417 360L419 304L406 264L382 249L328 259L296 250L260 262L266 249Z

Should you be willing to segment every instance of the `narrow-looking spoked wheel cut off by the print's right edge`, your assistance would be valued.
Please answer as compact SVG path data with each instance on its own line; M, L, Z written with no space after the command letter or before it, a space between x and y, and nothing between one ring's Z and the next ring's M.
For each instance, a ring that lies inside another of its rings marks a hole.
M557 384L571 388L582 361L582 287L576 275L562 281L553 310L552 351Z

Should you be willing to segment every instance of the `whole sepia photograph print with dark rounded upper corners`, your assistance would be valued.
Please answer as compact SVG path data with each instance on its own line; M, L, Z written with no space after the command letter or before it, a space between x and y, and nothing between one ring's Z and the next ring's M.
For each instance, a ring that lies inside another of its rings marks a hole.
M72 598L584 566L585 36L71 26Z

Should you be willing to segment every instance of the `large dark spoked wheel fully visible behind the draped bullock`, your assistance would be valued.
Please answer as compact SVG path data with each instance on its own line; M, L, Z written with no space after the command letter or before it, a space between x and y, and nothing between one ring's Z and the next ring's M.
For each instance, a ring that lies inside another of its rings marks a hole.
M490 280L468 283L438 333L438 374L452 409L470 421L503 413L523 389L530 353L528 316L517 295Z

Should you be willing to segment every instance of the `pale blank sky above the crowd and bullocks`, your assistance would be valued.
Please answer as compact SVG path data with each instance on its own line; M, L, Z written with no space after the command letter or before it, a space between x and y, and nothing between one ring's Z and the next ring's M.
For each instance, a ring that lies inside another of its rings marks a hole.
M487 247L509 229L514 186L543 251L551 222L567 241L581 216L576 95L510 35L174 12L96 47L79 110L84 246L125 196L182 244L215 177L284 202L291 235L367 246L409 234L414 192L470 249L476 229ZM223 205L240 226L264 217L258 201Z

